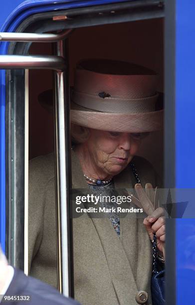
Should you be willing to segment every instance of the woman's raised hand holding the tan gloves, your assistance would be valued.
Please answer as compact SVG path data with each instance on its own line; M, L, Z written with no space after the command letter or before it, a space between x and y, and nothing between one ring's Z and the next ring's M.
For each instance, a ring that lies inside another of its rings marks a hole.
M156 233L157 247L162 254L165 248L165 218L163 215L164 209L161 207L157 208L143 222L151 241L153 240L153 233Z

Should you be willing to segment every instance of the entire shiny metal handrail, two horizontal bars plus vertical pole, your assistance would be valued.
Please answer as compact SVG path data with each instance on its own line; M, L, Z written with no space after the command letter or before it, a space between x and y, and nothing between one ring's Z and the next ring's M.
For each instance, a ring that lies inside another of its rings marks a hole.
M70 148L70 119L69 119L69 90L66 79L66 61L64 59L63 39L67 38L72 29L59 34L37 33L0 33L0 41L26 42L57 42L55 56L42 55L0 55L0 69L52 69L56 79L55 101L55 162L56 162L56 214L57 214L57 261L58 261L58 289L66 297L73 297L71 279L72 251L71 251L71 220L70 220L70 184L71 164L68 158ZM65 99L65 103L64 103ZM27 105L27 102L25 101ZM58 151L59 150L59 151Z

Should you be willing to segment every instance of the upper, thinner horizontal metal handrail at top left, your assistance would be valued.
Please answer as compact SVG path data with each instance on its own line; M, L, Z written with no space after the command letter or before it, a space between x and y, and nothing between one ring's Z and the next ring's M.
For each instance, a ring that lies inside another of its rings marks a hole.
M0 32L0 41L55 42L65 39L70 32L72 32L72 29L60 32L59 34Z

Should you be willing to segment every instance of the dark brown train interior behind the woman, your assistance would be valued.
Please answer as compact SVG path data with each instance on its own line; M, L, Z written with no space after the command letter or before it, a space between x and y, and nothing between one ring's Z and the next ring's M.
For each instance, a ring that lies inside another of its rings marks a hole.
M159 75L157 90L164 91L163 18L75 29L68 38L70 85L76 63L84 58L124 60L153 69ZM52 54L47 43L33 43L29 54ZM29 71L29 159L54 151L53 116L38 102L38 95L52 88L52 72ZM143 140L138 155L148 159L163 178L163 132Z

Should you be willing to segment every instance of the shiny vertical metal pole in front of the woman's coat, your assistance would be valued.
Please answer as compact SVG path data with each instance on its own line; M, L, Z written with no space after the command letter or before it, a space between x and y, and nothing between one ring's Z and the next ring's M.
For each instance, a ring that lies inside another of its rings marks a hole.
M64 42L57 42L57 54L64 57ZM55 179L57 223L58 290L73 297L72 225L70 221L70 105L67 69L55 72Z

